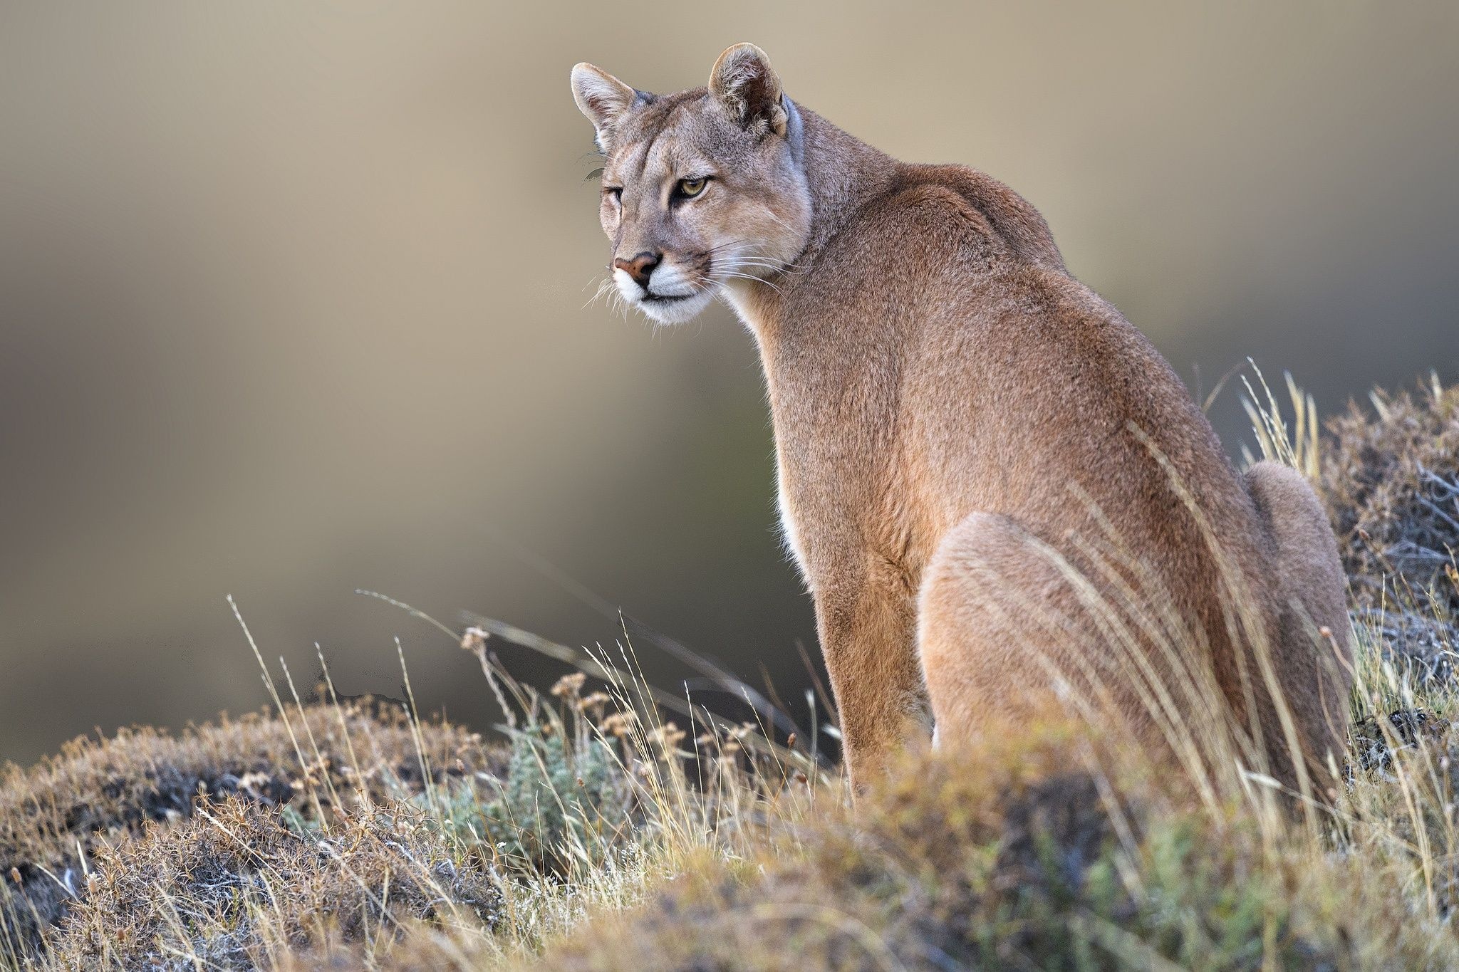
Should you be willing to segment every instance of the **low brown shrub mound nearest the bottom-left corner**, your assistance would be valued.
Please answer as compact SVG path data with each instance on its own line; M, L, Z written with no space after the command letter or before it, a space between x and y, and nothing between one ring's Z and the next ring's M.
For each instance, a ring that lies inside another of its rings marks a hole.
M298 832L247 797L200 800L92 861L55 941L61 968L255 968L340 941L401 938L417 922L490 930L500 890L422 810L338 815Z

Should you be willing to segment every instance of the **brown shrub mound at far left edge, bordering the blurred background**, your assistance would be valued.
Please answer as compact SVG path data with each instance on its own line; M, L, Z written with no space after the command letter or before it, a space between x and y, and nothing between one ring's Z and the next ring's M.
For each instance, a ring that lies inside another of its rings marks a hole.
M147 823L191 816L200 799L239 796L261 807L315 819L340 803L356 809L422 790L435 780L484 771L500 753L455 726L416 734L397 710L369 704L308 705L290 723L264 714L222 718L179 736L156 729L76 739L60 755L0 777L0 876L7 877L10 947L34 946L67 905L85 896L90 858ZM0 955L4 949L0 947Z

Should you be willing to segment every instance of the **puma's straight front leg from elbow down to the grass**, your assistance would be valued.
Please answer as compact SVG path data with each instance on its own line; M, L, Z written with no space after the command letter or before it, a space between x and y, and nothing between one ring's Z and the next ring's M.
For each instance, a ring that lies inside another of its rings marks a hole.
M840 710L852 791L875 781L891 756L928 736L915 600L906 579L881 561L818 579L816 624Z

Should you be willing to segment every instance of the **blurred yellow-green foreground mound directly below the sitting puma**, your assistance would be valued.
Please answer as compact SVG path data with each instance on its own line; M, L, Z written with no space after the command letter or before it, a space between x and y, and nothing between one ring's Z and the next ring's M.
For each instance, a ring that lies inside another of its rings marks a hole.
M1412 861L1358 828L1307 839L1240 806L1088 761L1024 727L915 767L855 815L785 835L763 869L680 877L630 920L546 957L563 969L1453 968ZM1174 791L1172 791L1174 790ZM1390 809L1390 807L1389 807ZM1360 836L1361 834L1361 836ZM1373 839L1382 847L1354 842Z

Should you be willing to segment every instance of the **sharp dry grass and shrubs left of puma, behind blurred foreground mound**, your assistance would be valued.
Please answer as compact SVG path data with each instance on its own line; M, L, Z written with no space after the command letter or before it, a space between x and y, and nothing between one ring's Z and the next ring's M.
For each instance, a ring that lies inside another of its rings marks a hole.
M829 785L753 724L662 720L605 662L597 691L575 675L540 695L479 632L463 647L506 708L505 743L292 704L7 768L0 969L518 960L702 860L748 854Z

